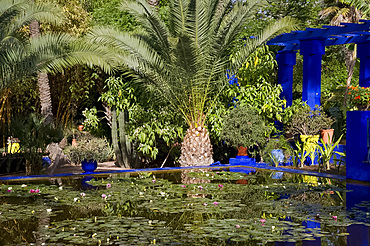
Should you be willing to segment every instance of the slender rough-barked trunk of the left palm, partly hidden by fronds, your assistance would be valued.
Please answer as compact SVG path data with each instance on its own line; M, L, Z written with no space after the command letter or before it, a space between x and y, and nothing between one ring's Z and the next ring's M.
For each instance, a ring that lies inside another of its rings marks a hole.
M31 39L40 37L40 24L38 21L32 21L30 23L30 34ZM46 73L38 72L37 84L39 87L41 114L45 118L45 124L49 124L53 121L53 107L51 104L48 75Z

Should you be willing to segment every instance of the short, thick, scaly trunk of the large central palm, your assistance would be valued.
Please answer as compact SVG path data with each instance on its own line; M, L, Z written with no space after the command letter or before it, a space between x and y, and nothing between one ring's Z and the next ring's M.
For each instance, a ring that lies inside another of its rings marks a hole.
M186 131L179 162L182 167L207 166L213 163L213 148L206 128L199 126Z

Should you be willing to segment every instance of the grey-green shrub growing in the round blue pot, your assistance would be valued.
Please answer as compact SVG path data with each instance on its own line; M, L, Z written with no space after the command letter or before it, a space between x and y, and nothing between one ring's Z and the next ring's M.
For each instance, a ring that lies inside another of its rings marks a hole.
M69 159L80 164L83 160L107 161L113 158L113 149L105 138L97 138L88 133L77 135L77 145L64 149Z

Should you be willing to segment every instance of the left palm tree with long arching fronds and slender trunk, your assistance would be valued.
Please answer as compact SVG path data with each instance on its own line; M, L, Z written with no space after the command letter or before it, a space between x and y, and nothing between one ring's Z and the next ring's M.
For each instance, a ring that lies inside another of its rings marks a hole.
M54 5L29 0L0 2L0 89L38 72L60 72L75 64L97 65L106 72L115 66L113 57L107 56L104 47L90 45L67 34L37 35L30 41L24 31L28 24L38 25L36 20L56 23L61 20L59 13ZM45 102L43 92L50 96L48 81L44 82L46 86L39 86L41 102Z

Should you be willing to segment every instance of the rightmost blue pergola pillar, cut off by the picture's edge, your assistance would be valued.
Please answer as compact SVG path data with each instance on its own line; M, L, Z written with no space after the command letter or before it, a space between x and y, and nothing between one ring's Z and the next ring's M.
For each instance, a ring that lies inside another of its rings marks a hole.
M361 87L370 87L370 43L357 45L357 57L360 58L359 84Z

